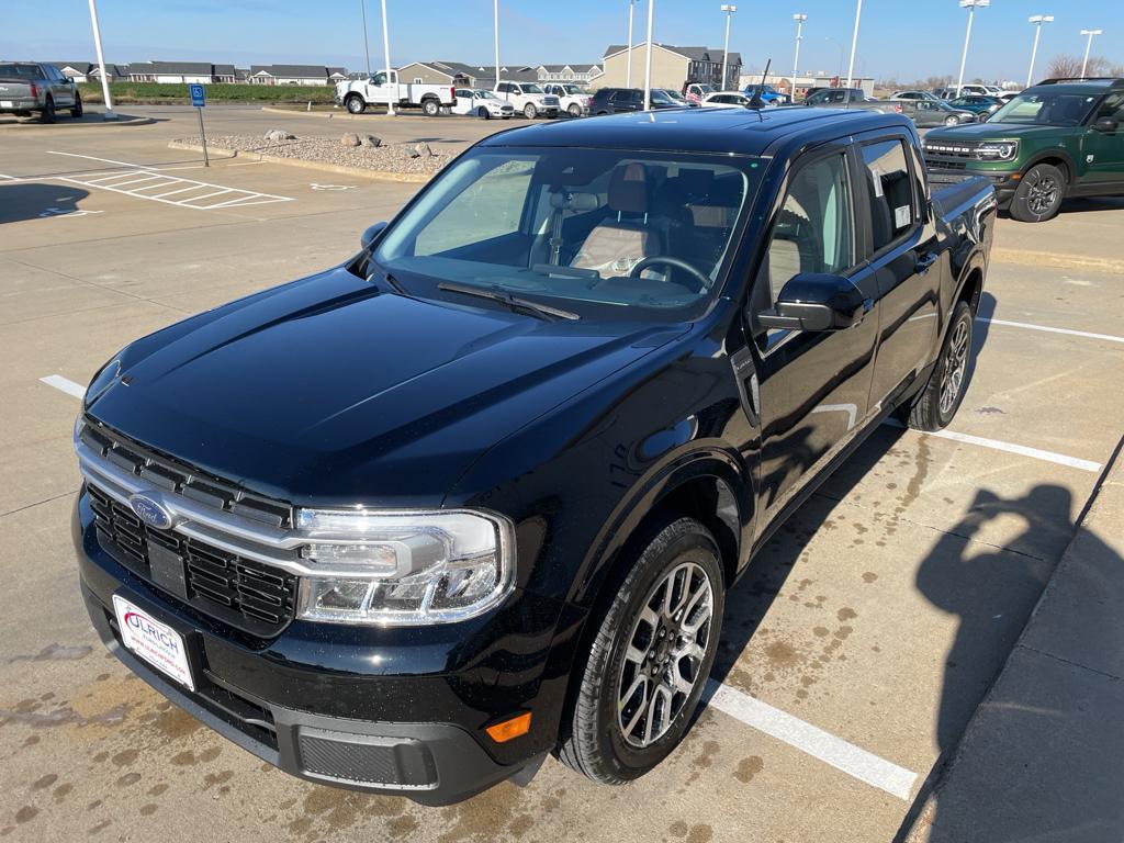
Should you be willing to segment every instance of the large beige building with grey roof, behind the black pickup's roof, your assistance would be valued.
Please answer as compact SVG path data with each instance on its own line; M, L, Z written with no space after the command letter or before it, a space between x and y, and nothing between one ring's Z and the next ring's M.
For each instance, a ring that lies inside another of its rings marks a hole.
M633 88L644 85L647 44L634 44L632 53L626 45L614 44L605 51L602 73L597 76L597 88L623 88L628 80L632 64ZM683 83L706 82L715 90L729 90L737 85L742 74L742 54L731 52L726 62L726 79L722 78L723 51L713 47L677 47L671 44L652 44L652 87L681 90Z

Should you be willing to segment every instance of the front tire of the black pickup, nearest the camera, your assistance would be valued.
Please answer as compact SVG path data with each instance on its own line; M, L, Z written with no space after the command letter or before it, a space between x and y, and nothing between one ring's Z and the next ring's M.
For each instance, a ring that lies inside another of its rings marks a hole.
M683 738L714 665L725 601L718 546L697 520L654 523L637 538L623 581L606 587L608 597L589 619L592 641L573 674L572 710L558 746L563 763L607 785L640 778ZM683 631L688 622L694 632Z

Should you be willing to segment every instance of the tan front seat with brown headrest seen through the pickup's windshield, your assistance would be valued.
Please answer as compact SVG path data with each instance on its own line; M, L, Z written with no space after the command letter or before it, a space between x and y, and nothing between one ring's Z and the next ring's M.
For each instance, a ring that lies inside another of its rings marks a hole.
M610 216L586 237L571 266L601 275L627 275L645 257L660 254L659 232L649 224L647 171L618 164L609 178Z

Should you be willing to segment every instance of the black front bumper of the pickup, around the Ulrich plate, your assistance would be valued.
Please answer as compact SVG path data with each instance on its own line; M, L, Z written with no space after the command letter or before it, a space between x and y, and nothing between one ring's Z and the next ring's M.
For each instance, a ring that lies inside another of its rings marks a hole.
M553 747L565 694L556 658L569 658L569 647L552 646L560 611L550 601L517 595L479 625L444 629L294 620L270 641L253 640L121 565L92 522L83 491L72 524L80 587L109 651L188 714L288 773L448 805L529 778ZM183 636L194 691L124 647L115 593ZM487 737L487 725L522 710L533 713L531 732L504 744Z

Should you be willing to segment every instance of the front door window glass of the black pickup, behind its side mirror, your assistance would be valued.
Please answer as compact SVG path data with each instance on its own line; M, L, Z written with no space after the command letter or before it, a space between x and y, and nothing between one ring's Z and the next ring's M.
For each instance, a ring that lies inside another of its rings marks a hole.
M772 307L785 284L803 272L844 274L854 265L852 208L842 153L821 158L796 174L758 273L758 309Z

